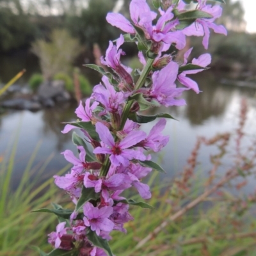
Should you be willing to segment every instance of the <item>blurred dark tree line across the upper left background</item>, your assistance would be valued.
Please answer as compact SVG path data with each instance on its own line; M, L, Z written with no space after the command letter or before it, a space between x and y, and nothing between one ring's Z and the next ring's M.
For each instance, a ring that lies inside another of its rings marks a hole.
M89 49L94 42L106 48L118 36L118 30L106 22L116 1L0 0L0 52L29 49L34 40L47 39L55 28L68 29Z

